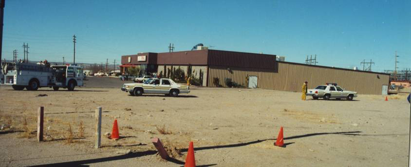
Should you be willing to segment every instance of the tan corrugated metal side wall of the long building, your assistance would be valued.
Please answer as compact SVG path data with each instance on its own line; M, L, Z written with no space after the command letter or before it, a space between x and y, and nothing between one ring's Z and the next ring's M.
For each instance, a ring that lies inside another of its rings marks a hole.
M356 91L359 94L381 95L382 85L389 84L389 75L354 70L333 69L318 66L307 66L287 62L278 62L276 69L253 69L210 66L208 85L216 87L213 78L219 78L220 84L226 86L224 78L247 86L247 76L258 77L258 87L300 92L301 85L308 82L308 88L325 83L338 83L342 88Z

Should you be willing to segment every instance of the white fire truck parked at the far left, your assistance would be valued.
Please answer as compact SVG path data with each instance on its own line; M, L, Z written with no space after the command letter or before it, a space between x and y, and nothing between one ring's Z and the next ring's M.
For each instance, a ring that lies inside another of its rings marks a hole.
M37 90L53 87L54 90L83 86L83 67L76 65L46 66L33 63L3 63L0 84L12 85L14 90Z

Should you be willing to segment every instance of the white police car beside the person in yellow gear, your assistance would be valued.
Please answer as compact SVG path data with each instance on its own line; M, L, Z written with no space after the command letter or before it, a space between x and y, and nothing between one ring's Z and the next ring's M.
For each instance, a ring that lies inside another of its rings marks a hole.
M315 89L308 89L306 95L313 96L314 100L318 98L323 98L324 100L329 100L330 98L353 100L357 97L357 92L344 90L336 83L326 83L326 85L319 85Z

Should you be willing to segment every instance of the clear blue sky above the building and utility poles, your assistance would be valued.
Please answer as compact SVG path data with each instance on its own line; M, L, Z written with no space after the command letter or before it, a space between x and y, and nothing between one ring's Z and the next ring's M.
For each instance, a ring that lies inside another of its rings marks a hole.
M120 61L138 52L210 49L263 52L304 63L373 71L411 67L411 0L6 0L3 58Z

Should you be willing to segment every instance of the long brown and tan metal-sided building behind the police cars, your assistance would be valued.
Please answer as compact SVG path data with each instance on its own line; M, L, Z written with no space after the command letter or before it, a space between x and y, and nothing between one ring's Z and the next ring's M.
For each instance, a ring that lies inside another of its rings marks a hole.
M149 52L125 55L121 60L123 71L140 66L143 74L168 73L176 68L184 70L186 75L188 71L196 71L191 76L200 77L202 85L209 87L227 86L225 78L247 87L253 77L257 87L262 89L301 91L302 83L308 81L309 88L338 83L359 94L382 94L390 77L386 73L277 62L276 55L224 50Z

